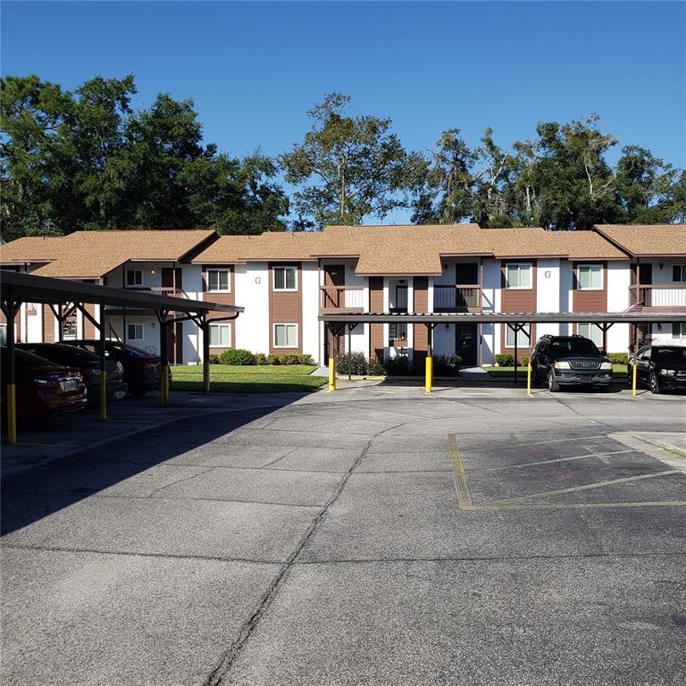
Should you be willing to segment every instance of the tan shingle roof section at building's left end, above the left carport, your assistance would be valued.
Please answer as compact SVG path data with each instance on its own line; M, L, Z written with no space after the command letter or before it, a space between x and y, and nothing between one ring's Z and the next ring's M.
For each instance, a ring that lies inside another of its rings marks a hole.
M97 279L132 261L174 262L213 230L75 231L56 238L19 238L0 247L0 263L44 262L39 276Z

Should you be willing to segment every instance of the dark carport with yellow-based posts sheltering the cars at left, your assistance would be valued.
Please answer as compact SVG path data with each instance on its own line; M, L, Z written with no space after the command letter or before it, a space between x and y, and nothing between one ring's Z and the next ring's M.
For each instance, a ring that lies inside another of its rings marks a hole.
M94 283L53 279L45 276L34 276L3 270L0 282L2 311L7 320L7 434L10 443L17 441L16 417L16 364L14 358L14 318L21 303L41 303L48 305L59 322L60 339L62 339L62 323L74 312L79 312L93 324L100 340L100 418L107 419L107 398L105 381L105 307L116 305L119 307L145 308L155 312L160 323L160 400L164 405L169 397L169 361L167 350L167 329L170 322L191 321L203 332L203 391L208 393L210 386L210 320L207 314L225 313L225 316L215 317L212 322L234 320L243 312L243 307L236 305L222 305L220 303L203 300L192 300L182 297L155 295L130 289L116 289L100 286ZM99 321L90 314L85 305L99 305ZM171 313L181 316L170 318Z

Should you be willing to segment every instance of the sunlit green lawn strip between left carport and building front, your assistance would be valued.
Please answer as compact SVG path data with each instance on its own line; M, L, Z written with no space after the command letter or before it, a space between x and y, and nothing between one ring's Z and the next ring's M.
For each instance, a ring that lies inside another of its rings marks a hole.
M280 393L309 391L328 382L325 376L309 376L316 367L305 364L231 366L210 364L212 389L224 393ZM202 365L171 367L172 390L202 390Z

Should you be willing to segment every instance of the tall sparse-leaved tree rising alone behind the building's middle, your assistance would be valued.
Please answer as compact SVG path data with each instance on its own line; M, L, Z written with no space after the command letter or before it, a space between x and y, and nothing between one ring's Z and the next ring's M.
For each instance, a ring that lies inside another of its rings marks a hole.
M426 171L422 155L407 153L390 133L390 119L350 117L348 96L330 93L308 112L311 130L280 155L299 222L356 224L410 205Z

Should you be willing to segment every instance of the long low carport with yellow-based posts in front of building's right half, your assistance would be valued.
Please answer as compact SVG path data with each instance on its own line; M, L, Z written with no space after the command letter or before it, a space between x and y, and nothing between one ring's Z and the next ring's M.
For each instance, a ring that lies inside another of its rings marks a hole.
M425 390L431 393L433 385L433 330L440 325L458 324L506 324L515 331L515 383L517 382L517 332L522 331L529 340L529 364L527 365L527 393L531 393L531 324L591 323L603 331L616 323L653 324L686 322L686 312L501 312L501 313L369 313L369 314L320 314L319 321L333 334L334 345L338 346L339 334L347 327L348 341L352 330L358 324L406 323L424 324L427 328L428 347L425 365ZM527 331L526 327L529 327ZM339 350L335 350L335 356ZM336 389L335 356L329 358L329 389ZM634 368L635 371L635 368ZM348 376L350 374L348 373ZM635 394L635 380L634 380Z

